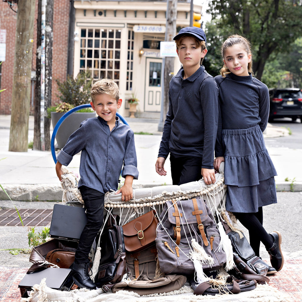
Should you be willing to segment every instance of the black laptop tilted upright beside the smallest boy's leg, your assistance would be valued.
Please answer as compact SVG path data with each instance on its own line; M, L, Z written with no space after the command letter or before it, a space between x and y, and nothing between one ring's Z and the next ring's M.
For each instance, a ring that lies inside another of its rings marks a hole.
M85 208L55 204L53 206L49 236L79 241L86 223Z

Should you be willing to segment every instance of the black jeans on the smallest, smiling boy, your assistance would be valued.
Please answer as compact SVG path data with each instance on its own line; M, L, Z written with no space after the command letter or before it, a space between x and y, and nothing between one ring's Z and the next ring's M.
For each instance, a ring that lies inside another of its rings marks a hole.
M86 186L81 186L79 189L85 203L88 220L80 236L75 262L84 263L88 262L88 255L95 236L103 225L105 194Z

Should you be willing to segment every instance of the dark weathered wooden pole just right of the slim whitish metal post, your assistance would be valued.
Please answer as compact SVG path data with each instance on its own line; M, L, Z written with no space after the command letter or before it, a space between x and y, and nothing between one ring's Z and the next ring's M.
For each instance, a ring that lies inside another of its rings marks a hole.
M53 0L47 0L46 5L46 28L45 28L45 116L44 135L45 150L50 150L50 118L47 117L47 108L51 107L51 84L52 84L52 61L53 61Z

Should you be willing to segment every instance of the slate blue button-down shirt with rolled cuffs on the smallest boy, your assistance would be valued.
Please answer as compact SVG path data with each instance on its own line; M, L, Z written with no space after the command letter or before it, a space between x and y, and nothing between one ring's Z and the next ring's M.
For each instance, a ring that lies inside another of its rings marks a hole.
M85 185L102 193L116 191L122 168L123 177L138 178L134 133L116 119L111 131L101 117L84 120L59 152L57 161L67 166L82 151L79 187Z

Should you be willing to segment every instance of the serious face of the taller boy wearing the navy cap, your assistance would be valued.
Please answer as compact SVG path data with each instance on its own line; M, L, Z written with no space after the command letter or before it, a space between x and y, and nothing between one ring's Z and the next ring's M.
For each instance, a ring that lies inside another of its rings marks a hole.
M207 53L207 49L201 50L201 47L197 46L196 40L190 36L182 39L176 51L180 63L182 63L185 70L191 70L191 74L200 67L201 58Z

